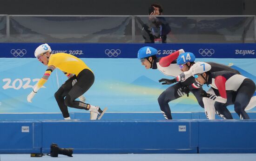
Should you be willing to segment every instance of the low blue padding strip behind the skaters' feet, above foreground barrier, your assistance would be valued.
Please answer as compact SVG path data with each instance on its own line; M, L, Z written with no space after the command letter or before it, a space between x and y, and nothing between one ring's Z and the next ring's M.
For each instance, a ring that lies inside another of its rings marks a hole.
M247 112L250 119L256 119L256 112ZM234 119L240 118L235 112L231 112ZM88 112L70 112L71 119L88 121L90 114ZM172 113L173 119L207 119L204 112L186 112L186 113ZM216 119L221 119L216 114ZM0 121L12 121L12 120L63 120L61 113L7 113L0 114ZM106 112L102 117L102 120L165 120L161 112L155 113L108 113Z

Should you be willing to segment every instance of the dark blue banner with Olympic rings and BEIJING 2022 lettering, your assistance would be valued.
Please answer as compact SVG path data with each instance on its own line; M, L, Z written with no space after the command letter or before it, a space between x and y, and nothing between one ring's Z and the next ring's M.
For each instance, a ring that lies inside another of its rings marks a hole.
M34 58L34 50L41 43L0 43L1 57ZM74 54L80 58L137 58L141 47L155 47L158 55L166 56L183 48L196 58L256 58L254 43L49 43L54 53ZM209 51L210 50L210 51Z

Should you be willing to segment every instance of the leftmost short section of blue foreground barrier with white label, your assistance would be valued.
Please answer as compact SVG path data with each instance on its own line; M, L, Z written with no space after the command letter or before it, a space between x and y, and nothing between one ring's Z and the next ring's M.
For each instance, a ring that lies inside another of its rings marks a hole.
M40 153L39 121L0 121L0 153Z

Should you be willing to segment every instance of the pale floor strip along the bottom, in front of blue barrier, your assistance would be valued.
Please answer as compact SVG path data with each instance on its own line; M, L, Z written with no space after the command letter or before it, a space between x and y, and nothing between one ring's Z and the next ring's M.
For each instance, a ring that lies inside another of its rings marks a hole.
M30 157L30 154L0 154L0 161L256 161L256 154L73 154Z

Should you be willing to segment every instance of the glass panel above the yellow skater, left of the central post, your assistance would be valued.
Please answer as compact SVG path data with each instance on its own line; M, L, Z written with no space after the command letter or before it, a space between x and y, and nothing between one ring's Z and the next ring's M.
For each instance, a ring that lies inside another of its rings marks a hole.
M10 16L11 42L131 42L130 16Z

